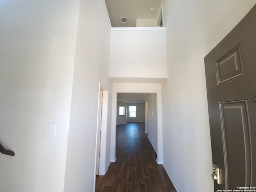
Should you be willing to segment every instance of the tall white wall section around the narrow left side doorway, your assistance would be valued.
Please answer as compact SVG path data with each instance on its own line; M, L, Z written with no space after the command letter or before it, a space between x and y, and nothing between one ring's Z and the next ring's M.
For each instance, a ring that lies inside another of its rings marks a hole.
M92 192L95 182L96 130L99 82L109 89L111 118L112 85L108 80L110 26L102 0L81 0L68 134L64 192ZM110 162L108 120L106 164Z

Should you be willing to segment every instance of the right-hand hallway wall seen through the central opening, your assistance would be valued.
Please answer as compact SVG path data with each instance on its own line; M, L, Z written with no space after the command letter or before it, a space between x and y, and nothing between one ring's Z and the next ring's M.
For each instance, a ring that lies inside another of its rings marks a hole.
M148 139L157 152L157 105L156 94L149 94L145 98L148 102ZM153 141L152 141L153 140Z

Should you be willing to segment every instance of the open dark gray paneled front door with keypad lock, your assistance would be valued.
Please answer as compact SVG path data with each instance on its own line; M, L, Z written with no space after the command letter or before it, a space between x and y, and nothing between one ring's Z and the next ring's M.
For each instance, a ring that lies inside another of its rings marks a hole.
M212 175L218 179L214 181L214 191L253 188L256 186L256 6L204 61L212 161L217 166Z

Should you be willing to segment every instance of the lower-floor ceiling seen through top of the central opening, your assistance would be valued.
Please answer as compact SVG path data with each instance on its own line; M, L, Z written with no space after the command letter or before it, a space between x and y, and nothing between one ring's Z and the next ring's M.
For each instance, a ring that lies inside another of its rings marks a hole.
M132 103L144 103L145 98L149 93L118 93L117 101L132 102Z

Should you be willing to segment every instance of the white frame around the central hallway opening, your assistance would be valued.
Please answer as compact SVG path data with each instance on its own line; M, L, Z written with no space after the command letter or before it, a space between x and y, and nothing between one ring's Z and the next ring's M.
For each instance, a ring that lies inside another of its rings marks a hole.
M161 84L150 83L113 83L112 109L117 108L118 93L155 93L157 108L157 159L158 164L163 164L163 140L162 140L162 90ZM112 110L110 161L116 161L116 115L117 110Z

